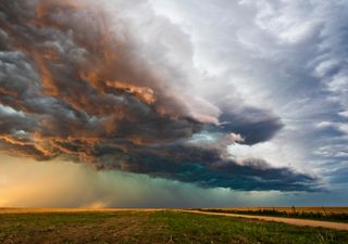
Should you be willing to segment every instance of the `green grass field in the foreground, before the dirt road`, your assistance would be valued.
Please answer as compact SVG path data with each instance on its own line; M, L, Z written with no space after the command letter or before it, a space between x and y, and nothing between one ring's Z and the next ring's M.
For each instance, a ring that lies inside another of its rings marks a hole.
M0 243L347 244L348 232L173 210L8 211Z

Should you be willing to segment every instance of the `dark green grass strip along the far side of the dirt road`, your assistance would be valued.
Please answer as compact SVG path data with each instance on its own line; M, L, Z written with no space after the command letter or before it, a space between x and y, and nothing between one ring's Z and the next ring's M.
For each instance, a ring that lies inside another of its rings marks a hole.
M238 210L238 209L223 209L223 208L211 208L211 209L204 208L204 209L197 209L197 210L212 211L212 213L238 214L238 215L274 216L274 217L285 217L285 218L348 222L348 214L347 213L286 211L286 210L277 210L277 209Z

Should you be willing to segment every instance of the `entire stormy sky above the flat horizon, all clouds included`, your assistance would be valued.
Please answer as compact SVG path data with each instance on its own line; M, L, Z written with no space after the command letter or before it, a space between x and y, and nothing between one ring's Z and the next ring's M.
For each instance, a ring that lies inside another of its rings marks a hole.
M2 0L0 207L347 205L345 0Z

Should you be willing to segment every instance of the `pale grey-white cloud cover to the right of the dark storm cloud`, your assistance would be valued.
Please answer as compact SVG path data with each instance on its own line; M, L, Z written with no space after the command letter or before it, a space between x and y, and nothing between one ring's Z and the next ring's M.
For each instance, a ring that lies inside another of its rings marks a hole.
M287 154L301 158L299 167L315 169L327 181L335 179L326 167L346 163L345 157L334 155L345 152L340 149L347 147L347 134L341 128L318 129L315 125L347 126L341 116L348 106L347 1L154 2L158 12L174 22L185 20L183 28L194 29L196 56L203 69L222 76L247 102L265 104L282 117L276 121L277 116L270 116L274 128L284 124L276 137L279 152L284 153L286 144ZM234 101L241 103L241 99ZM275 130L265 131L270 133L262 138ZM323 155L314 153L324 146ZM346 194L346 188L341 192Z

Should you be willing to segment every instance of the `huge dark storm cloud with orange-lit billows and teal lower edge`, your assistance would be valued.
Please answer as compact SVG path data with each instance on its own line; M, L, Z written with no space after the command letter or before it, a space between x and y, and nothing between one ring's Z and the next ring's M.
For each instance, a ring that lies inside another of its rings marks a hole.
M212 97L221 91L195 93L175 62L161 64L144 51L122 15L127 7L120 8L111 15L83 0L0 2L2 152L207 188L315 190L313 177L290 168L234 160L228 144L270 140L279 118L228 100L233 90L220 100ZM164 46L154 54L167 55Z

